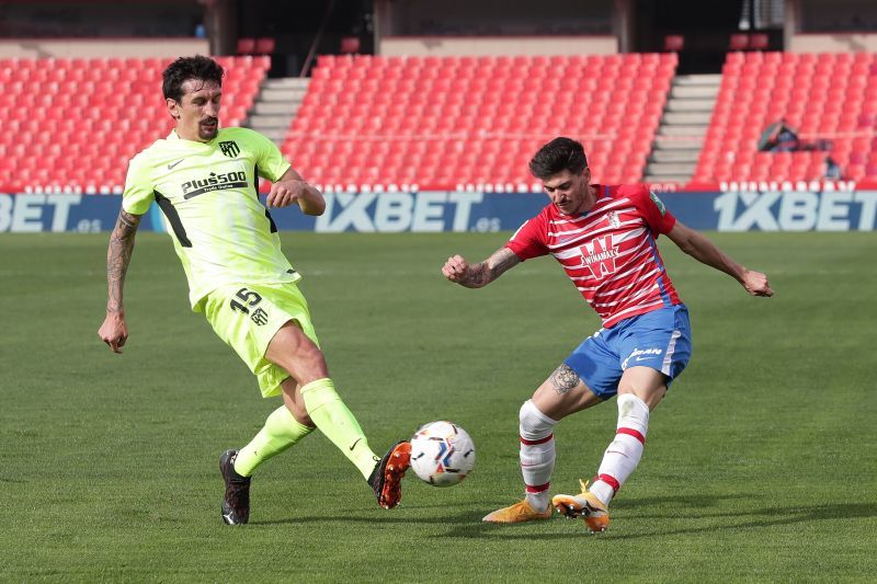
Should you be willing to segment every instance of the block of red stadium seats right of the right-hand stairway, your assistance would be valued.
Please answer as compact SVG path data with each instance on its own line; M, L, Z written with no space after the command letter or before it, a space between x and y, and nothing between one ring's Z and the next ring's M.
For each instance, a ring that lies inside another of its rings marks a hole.
M779 118L805 144L828 145L847 178L867 175L877 151L877 82L852 71L874 60L862 53L728 54L694 176L702 182L822 178L828 151L795 152L790 162L785 154L756 152L761 133ZM721 153L732 153L734 163L721 161Z

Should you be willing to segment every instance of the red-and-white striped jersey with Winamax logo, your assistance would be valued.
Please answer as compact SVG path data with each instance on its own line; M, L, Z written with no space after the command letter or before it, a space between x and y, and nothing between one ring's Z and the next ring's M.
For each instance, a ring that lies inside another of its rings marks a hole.
M505 247L522 260L554 255L604 328L681 304L656 244L675 217L645 185L592 186L590 210L563 215L549 204Z

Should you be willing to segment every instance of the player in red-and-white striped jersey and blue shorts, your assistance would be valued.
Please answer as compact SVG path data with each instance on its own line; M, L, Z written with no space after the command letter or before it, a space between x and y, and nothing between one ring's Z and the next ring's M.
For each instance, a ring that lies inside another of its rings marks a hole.
M688 363L688 311L664 270L660 234L697 261L737 279L752 296L772 296L767 277L738 264L699 232L679 222L643 185L591 184L582 145L556 138L529 170L550 199L483 262L449 257L442 273L468 288L487 286L525 260L551 254L603 328L585 339L524 402L520 412L524 500L487 515L488 523L547 519L551 506L604 531L608 505L636 469L649 414ZM577 495L549 500L555 467L554 426L567 415L617 396L616 434L596 480Z

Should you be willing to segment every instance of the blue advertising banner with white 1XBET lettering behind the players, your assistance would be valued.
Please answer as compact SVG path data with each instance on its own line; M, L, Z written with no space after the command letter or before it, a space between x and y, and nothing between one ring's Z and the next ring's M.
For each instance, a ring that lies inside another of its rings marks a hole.
M873 231L877 191L825 184L820 191L661 193L685 225L718 231ZM841 188L843 187L843 188ZM320 217L297 209L273 209L281 230L322 233L500 231L517 229L547 203L542 193L429 191L420 193L327 193ZM0 232L109 231L121 195L0 194ZM163 231L158 205L140 229Z

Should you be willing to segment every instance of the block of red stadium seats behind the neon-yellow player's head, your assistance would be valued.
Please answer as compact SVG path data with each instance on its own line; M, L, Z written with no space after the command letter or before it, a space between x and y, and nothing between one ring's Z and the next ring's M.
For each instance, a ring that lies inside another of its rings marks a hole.
M221 57L229 87L224 96L226 124L242 119L264 78L266 64L252 57ZM0 95L0 122L7 130L0 138L4 162L23 169L21 186L91 184L112 187L124 182L127 161L158 138L167 136L171 124L153 83L135 83L146 78L159 80L169 59L15 59ZM14 71L14 72L13 72ZM39 72L37 72L39 71ZM0 80L2 80L0 73ZM235 81L240 79L243 81ZM26 84L25 84L26 82ZM118 83L134 88L126 98L129 107L111 102ZM143 87L143 91L140 91ZM13 107L29 94L37 105L29 110ZM8 103L7 103L8 101ZM47 131L47 127L52 131ZM93 142L92 133L102 139ZM45 152L47 160L33 165L32 153L19 148L20 134ZM57 140L62 135L64 140ZM135 137L135 138L132 138ZM76 160L76 167L69 162Z

